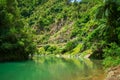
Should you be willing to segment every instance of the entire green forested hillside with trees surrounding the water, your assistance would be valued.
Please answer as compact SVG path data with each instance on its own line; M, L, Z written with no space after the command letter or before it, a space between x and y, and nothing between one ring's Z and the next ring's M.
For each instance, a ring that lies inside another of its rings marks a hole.
M70 55L120 63L119 0L0 0L0 61Z

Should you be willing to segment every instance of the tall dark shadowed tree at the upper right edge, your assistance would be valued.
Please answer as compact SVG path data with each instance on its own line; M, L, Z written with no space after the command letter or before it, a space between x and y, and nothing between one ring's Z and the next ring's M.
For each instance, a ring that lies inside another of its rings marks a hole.
M119 25L119 15L120 11L118 11L119 4L117 0L105 0L101 6L98 7L97 18L106 20L105 27L105 39L108 42L117 42L117 35L115 33L116 28Z

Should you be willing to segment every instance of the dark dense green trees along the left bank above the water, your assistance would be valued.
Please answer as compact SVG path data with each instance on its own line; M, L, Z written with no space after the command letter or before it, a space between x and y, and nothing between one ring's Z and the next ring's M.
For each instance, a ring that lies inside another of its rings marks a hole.
M16 0L0 1L0 61L26 60L36 48L32 30L25 26Z

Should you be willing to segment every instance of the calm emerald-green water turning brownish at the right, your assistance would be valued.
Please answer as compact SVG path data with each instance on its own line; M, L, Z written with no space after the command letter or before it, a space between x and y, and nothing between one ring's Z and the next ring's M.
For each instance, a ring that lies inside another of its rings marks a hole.
M0 63L0 80L104 80L102 66L85 59L40 57Z

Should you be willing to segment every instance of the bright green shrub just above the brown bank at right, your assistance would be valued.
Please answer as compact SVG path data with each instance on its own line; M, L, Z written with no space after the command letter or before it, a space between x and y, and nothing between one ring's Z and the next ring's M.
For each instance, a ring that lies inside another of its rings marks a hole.
M120 47L116 43L111 43L103 51L105 57L103 64L105 67L111 67L120 64Z

